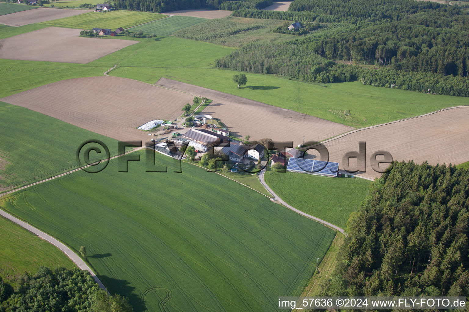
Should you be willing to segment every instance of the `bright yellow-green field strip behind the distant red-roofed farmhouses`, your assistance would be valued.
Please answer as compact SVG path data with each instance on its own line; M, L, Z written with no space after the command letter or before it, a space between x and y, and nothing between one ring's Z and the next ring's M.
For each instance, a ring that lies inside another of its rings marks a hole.
M135 11L89 12L42 22L41 24L79 29L108 28L114 30L119 27L129 28L146 22L156 21L166 16Z

